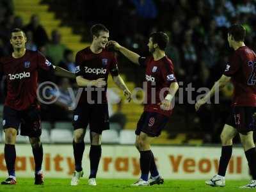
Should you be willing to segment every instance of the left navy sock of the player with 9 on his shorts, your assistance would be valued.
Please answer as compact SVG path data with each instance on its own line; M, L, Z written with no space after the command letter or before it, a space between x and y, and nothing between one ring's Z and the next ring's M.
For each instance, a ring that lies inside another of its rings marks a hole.
M141 179L148 180L148 173L150 170L151 154L150 150L144 150L140 152L140 169Z

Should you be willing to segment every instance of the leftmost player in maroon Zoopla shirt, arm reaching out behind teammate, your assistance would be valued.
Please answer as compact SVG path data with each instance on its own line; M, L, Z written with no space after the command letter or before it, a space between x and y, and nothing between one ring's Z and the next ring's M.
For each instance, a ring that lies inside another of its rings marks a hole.
M4 159L9 177L1 184L16 184L15 177L15 142L20 127L20 134L29 136L35 159L35 184L44 184L42 175L43 147L40 141L40 106L36 97L38 72L53 70L62 76L74 74L60 67L51 65L38 51L25 49L26 35L21 29L13 29L10 43L12 56L0 59L0 74L7 76L7 96L3 111L5 132ZM75 77L75 76L74 76Z

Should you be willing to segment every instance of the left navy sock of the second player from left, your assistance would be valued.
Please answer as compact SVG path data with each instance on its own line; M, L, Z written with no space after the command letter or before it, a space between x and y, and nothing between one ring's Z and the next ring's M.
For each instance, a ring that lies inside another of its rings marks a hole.
M82 141L81 143L76 143L75 141L73 141L73 149L76 171L81 172L81 170L83 170L82 159L84 154L84 141Z

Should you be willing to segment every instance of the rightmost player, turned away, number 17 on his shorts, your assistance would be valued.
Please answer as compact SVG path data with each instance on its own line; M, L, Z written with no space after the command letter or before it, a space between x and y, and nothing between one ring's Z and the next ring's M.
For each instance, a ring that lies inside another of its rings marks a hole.
M225 186L225 174L232 156L232 139L239 133L244 153L252 173L252 181L241 188L256 187L256 150L253 142L256 112L256 54L244 45L246 30L239 24L228 29L228 44L234 53L230 56L227 68L221 78L211 88L204 98L196 102L196 111L214 95L218 87L223 88L228 81L234 84L232 109L221 132L221 157L218 174L205 181L210 186Z

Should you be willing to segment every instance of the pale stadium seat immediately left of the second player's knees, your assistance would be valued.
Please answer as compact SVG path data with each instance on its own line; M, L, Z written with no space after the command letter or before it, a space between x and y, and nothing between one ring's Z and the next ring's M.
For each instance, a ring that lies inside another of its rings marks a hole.
M50 138L52 143L72 143L73 135L68 129L52 129Z

